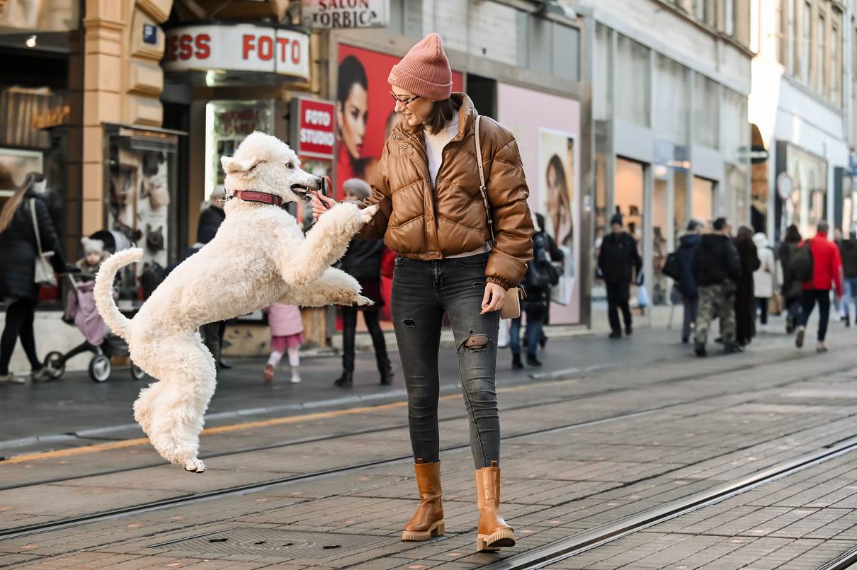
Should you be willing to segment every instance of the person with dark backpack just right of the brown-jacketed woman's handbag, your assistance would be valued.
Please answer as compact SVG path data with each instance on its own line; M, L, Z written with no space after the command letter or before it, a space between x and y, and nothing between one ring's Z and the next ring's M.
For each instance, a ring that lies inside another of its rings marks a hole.
M542 327L550 308L550 288L560 281L551 261L563 261L565 255L556 247L553 239L544 231L544 218L536 214L538 231L533 235L533 260L524 274L524 285L527 297L521 302L521 309L527 315L527 330L524 342L527 345L527 366L542 366L537 351L542 339ZM541 223L540 223L541 221ZM509 330L509 347L512 349L512 369L524 368L521 363L521 317L512 319Z

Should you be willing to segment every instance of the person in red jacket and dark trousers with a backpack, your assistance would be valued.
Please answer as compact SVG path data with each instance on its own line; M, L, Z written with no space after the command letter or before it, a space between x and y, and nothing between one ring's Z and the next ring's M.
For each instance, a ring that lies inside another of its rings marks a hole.
M794 345L803 348L806 322L818 303L818 345L816 352L827 352L824 337L830 319L830 285L836 287L836 295L842 297L842 257L839 248L827 238L830 225L818 224L818 233L800 244L789 262L795 277L804 282L801 297L801 314ZM808 261L807 261L808 260ZM806 278L806 279L805 279Z

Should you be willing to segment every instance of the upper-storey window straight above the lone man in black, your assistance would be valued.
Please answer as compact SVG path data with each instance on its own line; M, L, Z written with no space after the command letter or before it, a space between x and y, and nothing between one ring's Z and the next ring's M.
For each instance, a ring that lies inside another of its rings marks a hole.
M649 48L619 34L616 52L616 115L649 126Z

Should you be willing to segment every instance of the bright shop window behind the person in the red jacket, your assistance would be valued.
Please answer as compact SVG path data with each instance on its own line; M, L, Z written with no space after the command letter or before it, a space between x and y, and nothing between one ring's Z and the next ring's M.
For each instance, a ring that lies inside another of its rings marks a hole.
M787 145L786 171L792 178L792 194L782 207L781 230L795 224L803 236L813 235L824 219L827 200L827 163L824 159Z

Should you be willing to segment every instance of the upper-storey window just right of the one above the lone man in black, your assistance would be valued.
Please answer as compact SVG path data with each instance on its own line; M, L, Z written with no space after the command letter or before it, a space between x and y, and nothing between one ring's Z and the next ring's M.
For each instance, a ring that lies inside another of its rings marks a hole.
M678 144L687 142L690 94L686 67L668 57L655 57L655 129L657 135Z

